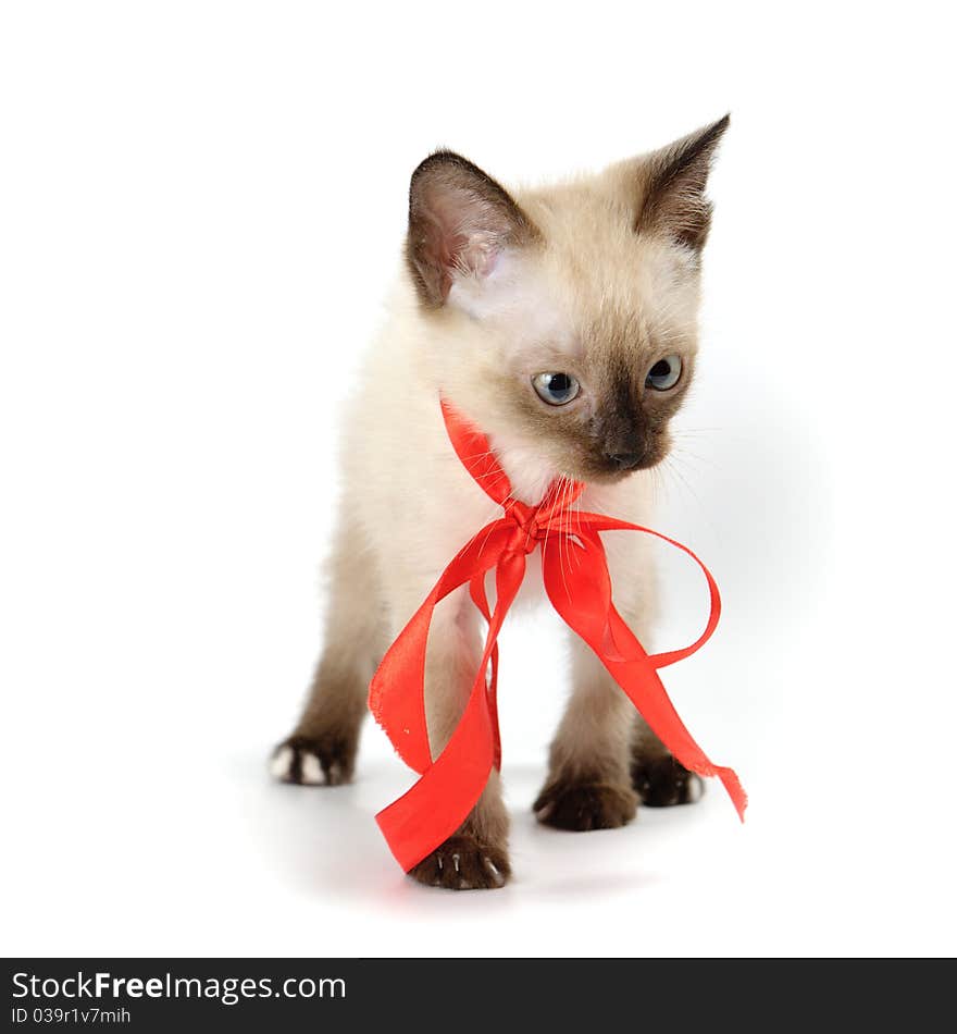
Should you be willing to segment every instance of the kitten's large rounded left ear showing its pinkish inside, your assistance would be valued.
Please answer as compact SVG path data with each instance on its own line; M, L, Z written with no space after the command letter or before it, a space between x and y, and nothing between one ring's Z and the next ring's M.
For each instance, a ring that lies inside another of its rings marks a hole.
M445 304L457 276L486 276L505 248L538 230L508 192L451 151L431 155L412 173L406 258L422 301Z

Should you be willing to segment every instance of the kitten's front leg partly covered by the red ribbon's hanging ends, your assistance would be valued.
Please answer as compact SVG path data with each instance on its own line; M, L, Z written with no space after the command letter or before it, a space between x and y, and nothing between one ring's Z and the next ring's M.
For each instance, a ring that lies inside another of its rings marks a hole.
M428 635L425 703L428 739L438 756L465 709L482 660L476 613L464 592L436 610ZM477 804L456 833L409 873L420 883L450 890L501 887L511 875L508 812L493 771Z

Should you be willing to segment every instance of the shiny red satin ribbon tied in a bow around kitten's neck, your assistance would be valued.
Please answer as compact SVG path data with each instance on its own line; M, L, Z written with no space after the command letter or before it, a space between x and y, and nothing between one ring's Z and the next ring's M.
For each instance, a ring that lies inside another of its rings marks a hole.
M408 872L450 837L481 797L493 767L499 767L497 639L522 583L525 556L539 546L545 591L552 606L595 651L681 764L698 775L717 775L721 779L744 821L747 796L737 776L731 768L708 760L684 727L658 677L658 668L699 650L718 625L721 599L710 571L689 549L658 531L600 514L572 510L584 484L573 483L571 490L566 487L559 491L555 482L537 506L511 498L511 484L485 435L467 424L445 402L442 411L459 459L486 494L504 507L505 514L458 552L372 678L372 713L406 764L421 774L411 789L376 815L398 863ZM611 602L611 578L598 536L600 531L612 530L652 534L687 553L701 568L711 594L711 613L705 631L692 645L648 654L625 625ZM485 576L493 568L496 600L495 607L489 610ZM433 759L424 699L428 626L436 604L464 584L488 623L488 632L464 713L445 750Z

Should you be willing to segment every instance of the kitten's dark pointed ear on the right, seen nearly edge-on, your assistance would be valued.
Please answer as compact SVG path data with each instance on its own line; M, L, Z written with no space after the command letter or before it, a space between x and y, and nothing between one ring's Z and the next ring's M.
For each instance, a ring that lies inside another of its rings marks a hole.
M705 186L730 115L639 159L635 230L666 233L700 251L711 225Z

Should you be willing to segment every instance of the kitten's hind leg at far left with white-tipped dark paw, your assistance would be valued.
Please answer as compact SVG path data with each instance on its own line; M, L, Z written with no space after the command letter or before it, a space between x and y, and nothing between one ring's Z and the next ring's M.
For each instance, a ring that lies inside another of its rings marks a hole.
M353 529L337 536L323 652L293 735L275 750L285 783L335 786L352 777L369 682L384 650L382 592L372 554Z

